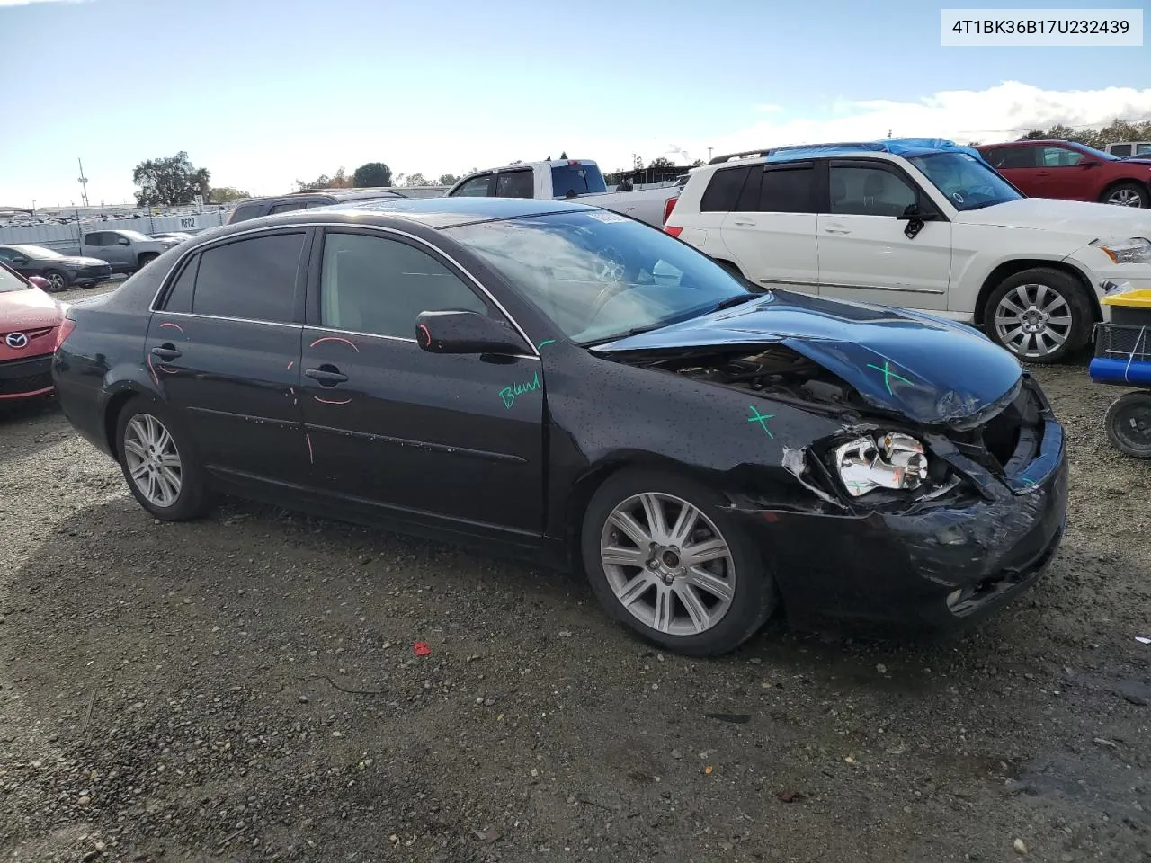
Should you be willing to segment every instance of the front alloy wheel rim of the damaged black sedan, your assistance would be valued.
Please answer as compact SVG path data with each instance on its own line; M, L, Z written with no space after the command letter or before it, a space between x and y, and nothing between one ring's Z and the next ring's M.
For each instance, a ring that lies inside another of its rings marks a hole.
M600 537L600 559L619 603L669 635L716 626L735 595L735 562L703 512L673 495L633 495L616 506Z

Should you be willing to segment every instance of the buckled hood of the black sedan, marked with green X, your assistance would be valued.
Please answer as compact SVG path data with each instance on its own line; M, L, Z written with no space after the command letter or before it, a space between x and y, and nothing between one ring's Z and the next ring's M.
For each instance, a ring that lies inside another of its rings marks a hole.
M791 291L592 350L666 354L771 342L823 366L874 407L927 425L984 415L1013 397L1022 377L1019 360L971 327Z

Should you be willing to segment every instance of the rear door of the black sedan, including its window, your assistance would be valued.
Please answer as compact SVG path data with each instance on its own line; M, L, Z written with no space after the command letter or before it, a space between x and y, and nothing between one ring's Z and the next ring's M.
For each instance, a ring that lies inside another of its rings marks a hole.
M298 384L308 229L228 238L169 276L145 362L220 473L303 486Z

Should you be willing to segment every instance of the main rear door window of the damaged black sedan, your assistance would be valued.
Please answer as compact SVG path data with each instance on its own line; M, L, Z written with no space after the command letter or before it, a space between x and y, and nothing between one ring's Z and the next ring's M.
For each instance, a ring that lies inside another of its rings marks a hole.
M192 312L289 323L304 234L241 239L200 253Z

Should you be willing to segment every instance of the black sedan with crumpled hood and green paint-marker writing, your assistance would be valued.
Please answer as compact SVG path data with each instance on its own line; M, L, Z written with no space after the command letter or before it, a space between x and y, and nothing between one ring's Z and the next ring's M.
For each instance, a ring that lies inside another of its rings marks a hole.
M582 205L245 221L67 318L62 407L157 518L219 490L496 543L684 654L780 605L973 620L1062 535L1062 428L983 335L764 290Z

